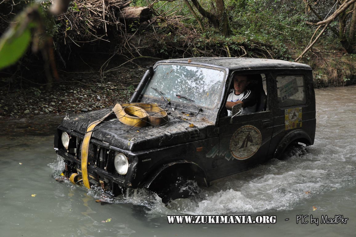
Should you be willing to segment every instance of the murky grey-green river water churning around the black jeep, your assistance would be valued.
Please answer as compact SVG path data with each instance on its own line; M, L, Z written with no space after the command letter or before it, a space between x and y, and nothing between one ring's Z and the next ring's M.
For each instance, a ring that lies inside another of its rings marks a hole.
M99 191L55 181L63 163L53 150L53 133L61 118L1 121L0 236L355 236L356 87L315 93L313 146L220 180L198 197L168 207L145 191L108 200ZM274 215L277 221L168 224L167 215ZM297 224L298 215L308 223ZM319 225L310 223L311 215ZM321 224L325 215L349 220Z

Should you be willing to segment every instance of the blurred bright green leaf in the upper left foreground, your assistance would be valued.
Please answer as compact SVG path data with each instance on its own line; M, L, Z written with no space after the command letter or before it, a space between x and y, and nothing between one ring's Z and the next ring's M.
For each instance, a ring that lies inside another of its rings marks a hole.
M0 38L0 70L8 67L25 54L31 40L30 27L19 33L19 29L10 27Z

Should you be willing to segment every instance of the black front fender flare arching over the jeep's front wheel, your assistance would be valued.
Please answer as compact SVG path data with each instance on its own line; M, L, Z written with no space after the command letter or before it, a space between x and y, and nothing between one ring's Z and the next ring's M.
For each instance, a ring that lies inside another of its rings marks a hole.
M152 188L158 178L161 175L165 175L165 173L171 169L174 169L175 171L184 170L185 173L188 173L190 175L194 174L194 179L197 180L198 183L205 184L206 186L208 186L208 184L206 183L206 174L203 168L201 168L197 163L187 160L178 160L164 164L155 173L153 173L153 175L147 178L143 186L148 189Z

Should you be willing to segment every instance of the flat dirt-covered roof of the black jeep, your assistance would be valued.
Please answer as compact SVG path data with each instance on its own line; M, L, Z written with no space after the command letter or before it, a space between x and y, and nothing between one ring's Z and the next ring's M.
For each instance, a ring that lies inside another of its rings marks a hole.
M188 61L189 60L189 61ZM246 57L193 57L185 59L167 59L156 62L162 63L189 63L225 67L229 70L253 70L253 69L307 69L309 65L298 62L288 62L276 59L256 59Z

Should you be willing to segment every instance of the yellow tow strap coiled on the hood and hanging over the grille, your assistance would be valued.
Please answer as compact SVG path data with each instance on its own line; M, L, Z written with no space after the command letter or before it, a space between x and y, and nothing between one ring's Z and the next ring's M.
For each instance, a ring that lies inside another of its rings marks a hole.
M159 126L168 122L167 112L158 107L155 104L145 104L145 103L127 103L127 104L116 104L113 111L117 119L124 123L125 125L134 127L144 127L149 123L152 126ZM89 153L89 142L91 134L96 125L103 122L106 117L112 113L106 114L99 120L96 120L87 128L87 132L84 135L82 143L82 176L83 184L85 187L90 189L89 177L88 177L88 153Z

